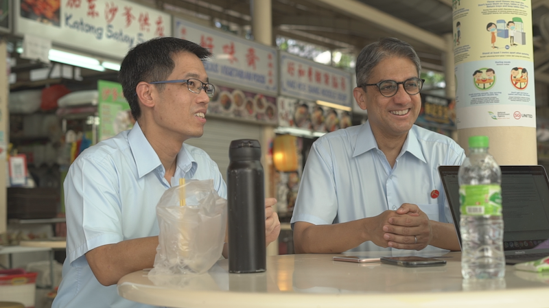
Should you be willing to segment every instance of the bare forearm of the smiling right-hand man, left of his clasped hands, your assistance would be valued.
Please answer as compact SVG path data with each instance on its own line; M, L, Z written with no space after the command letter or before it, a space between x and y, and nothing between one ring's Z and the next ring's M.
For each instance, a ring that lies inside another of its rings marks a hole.
M364 227L366 225L364 220L328 225L296 222L294 224L295 251L296 253L340 253L355 248L364 241L371 240L371 235Z

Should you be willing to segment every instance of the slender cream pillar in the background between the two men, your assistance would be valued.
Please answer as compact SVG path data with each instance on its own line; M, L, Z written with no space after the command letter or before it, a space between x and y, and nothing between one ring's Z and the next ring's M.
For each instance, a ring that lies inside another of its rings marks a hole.
M272 8L271 0L252 0L250 1L250 11L252 12L252 33L253 38L257 43L271 46L272 45ZM272 189L270 189L271 182L271 170L272 157L268 155L268 150L272 139L274 139L274 129L272 126L263 126L263 132L261 134L261 152L264 158L261 162L264 166L265 174L265 196L271 196ZM276 209L275 209L276 211ZM279 254L279 241L273 241L267 247L267 254L272 256Z

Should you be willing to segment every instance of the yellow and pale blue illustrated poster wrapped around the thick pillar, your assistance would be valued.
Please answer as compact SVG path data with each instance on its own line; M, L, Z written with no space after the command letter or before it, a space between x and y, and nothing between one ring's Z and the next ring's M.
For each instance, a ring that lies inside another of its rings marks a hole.
M454 2L457 128L535 128L531 1Z

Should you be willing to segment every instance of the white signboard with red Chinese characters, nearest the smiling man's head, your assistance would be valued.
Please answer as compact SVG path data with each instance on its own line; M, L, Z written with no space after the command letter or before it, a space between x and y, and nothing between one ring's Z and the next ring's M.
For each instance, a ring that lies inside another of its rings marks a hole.
M325 64L280 53L280 93L351 107L351 74Z

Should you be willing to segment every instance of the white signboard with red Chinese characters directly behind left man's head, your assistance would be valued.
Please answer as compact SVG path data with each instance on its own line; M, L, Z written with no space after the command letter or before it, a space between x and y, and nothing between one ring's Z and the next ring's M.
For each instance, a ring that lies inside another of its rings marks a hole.
M174 36L209 49L213 58L204 63L210 80L276 94L277 49L233 34L174 19Z

